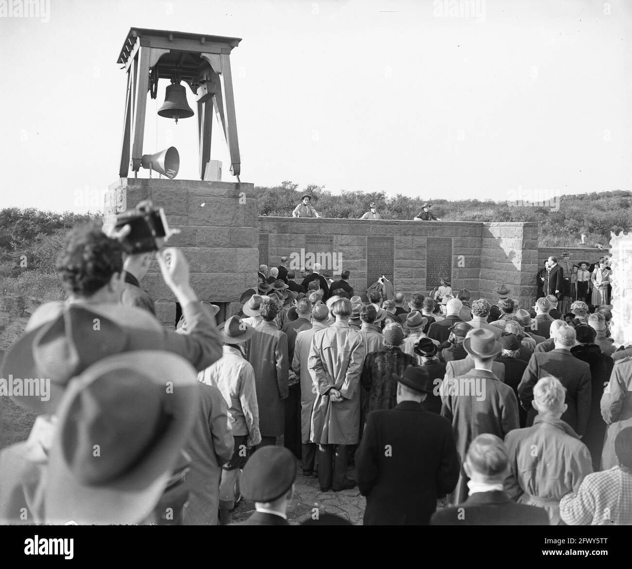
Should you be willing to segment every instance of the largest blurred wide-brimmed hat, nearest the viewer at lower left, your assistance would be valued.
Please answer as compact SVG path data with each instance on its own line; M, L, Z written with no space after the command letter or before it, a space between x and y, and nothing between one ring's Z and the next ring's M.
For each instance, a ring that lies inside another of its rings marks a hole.
M190 435L198 398L197 372L169 352L109 356L74 378L49 452L46 522L147 519Z

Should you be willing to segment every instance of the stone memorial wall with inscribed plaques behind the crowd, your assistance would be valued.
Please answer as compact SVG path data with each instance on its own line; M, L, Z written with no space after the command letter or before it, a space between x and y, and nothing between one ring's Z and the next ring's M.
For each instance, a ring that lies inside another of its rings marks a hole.
M428 293L444 276L454 290L496 300L507 284L523 305L535 298L537 223L478 221L336 220L261 216L259 260L268 266L288 257L289 268L321 262L339 278L351 271L358 293L386 276L396 291Z

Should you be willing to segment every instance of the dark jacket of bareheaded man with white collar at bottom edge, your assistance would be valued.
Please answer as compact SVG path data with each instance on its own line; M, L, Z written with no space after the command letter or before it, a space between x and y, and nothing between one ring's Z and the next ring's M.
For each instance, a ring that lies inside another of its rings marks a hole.
M543 508L516 504L500 490L475 492L451 508L439 510L430 525L549 525Z

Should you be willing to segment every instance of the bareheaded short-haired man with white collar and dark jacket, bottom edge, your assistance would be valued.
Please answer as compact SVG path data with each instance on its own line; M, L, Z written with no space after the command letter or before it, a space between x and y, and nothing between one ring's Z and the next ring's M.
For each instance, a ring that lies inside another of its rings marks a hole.
M507 447L489 433L478 435L463 462L468 498L434 513L430 525L549 525L542 508L514 503L503 490L509 472Z

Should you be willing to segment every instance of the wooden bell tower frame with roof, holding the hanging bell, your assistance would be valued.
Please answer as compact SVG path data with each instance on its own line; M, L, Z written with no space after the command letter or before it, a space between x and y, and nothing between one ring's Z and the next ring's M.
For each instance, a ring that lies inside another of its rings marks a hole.
M212 113L219 119L228 143L231 172L239 179L240 154L235 119L230 53L241 38L130 28L118 63L127 72L125 120L119 177L138 172L143 155L147 91L158 79L178 78L197 95L200 179L210 158Z

